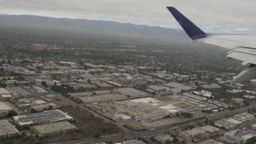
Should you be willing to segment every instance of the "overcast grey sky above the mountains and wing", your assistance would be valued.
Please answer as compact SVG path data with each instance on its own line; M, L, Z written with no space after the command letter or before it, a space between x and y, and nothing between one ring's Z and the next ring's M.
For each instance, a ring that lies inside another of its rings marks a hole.
M180 29L176 7L206 32L256 34L255 0L0 0L0 14L110 20Z

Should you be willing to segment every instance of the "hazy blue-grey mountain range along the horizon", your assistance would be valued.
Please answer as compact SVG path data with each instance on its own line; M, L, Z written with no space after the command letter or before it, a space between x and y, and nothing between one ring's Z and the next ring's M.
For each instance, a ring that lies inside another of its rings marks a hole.
M47 28L63 31L92 32L97 34L129 35L161 39L189 39L184 31L133 25L114 21L53 18L33 15L1 15L0 26Z

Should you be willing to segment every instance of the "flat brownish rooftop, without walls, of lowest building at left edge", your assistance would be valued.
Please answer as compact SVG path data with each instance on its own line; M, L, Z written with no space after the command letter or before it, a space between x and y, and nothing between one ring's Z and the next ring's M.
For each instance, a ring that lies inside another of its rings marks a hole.
M7 120L0 121L0 136L20 134L20 131L14 128Z

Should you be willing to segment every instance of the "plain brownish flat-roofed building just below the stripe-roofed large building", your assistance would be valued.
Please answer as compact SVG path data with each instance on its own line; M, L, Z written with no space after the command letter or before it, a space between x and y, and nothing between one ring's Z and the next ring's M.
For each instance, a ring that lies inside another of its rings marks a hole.
M60 135L63 133L78 130L77 127L75 127L73 124L66 121L37 125L37 126L31 127L30 129L39 137L48 136L48 135Z

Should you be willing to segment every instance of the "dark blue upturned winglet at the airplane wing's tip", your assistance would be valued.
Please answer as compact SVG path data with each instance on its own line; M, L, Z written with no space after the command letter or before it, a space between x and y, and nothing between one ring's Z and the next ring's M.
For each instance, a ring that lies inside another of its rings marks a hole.
M167 7L174 18L179 22L184 31L189 35L192 40L205 38L207 34L191 22L187 17L180 13L176 8Z

